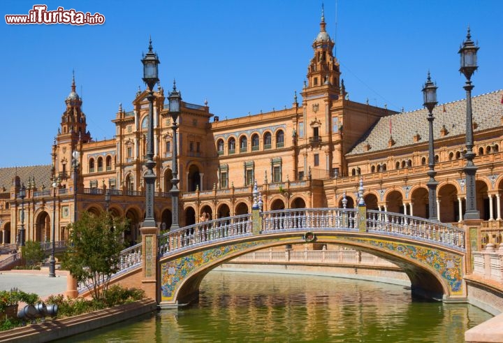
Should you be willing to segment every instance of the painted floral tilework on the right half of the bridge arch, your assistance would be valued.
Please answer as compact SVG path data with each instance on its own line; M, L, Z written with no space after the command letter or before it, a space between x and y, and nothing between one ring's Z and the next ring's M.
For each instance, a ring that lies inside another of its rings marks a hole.
M346 240L356 241L372 245L381 249L388 249L407 258L414 259L423 265L437 270L442 279L451 289L451 295L461 295L462 289L462 256L447 251L430 249L418 245L402 244L388 240L374 240L371 238L349 238Z

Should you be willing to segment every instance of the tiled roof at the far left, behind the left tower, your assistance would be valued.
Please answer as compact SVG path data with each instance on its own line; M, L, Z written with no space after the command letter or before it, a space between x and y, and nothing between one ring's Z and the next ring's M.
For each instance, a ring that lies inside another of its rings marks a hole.
M41 189L42 185L47 189L51 184L51 168L50 164L47 166L0 168L0 193L1 187L5 187L6 191L10 190L15 175L20 177L21 183L24 183L26 187L28 187L29 180L33 180L34 177L37 189Z

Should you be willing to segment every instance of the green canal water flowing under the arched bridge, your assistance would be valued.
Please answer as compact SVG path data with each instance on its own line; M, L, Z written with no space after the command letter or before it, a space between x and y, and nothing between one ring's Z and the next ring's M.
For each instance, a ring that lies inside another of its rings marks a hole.
M411 300L404 286L335 277L210 272L197 304L58 342L464 342L492 316Z

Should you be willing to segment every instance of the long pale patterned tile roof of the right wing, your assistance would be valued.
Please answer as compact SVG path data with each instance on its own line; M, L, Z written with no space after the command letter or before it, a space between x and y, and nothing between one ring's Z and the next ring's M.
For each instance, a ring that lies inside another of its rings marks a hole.
M477 124L474 132L502 126L503 89L495 92L472 97L473 122ZM444 112L445 108L445 112ZM433 109L433 137L441 138L440 131L445 125L448 133L443 138L464 135L466 133L466 99L437 105ZM347 153L347 155L363 154L367 152L365 146L370 145L368 152L389 149L388 140L391 136L395 140L393 148L414 144L416 133L421 136L418 143L428 142L428 110L423 108L412 112L398 113L382 117L372 126L365 136ZM390 124L391 122L391 124Z

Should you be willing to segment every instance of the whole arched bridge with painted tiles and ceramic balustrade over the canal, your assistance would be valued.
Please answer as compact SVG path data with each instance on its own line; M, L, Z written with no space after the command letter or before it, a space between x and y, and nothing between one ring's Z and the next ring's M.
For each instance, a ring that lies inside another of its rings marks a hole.
M305 242L343 245L385 258L407 273L412 295L445 302L467 297L463 276L471 263L465 229L365 206L252 210L163 235L157 228L141 231L142 243L122 251L121 270L112 282L142 287L161 307L196 299L207 272L233 258Z

